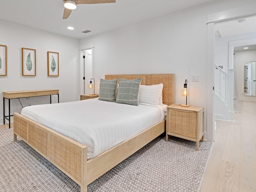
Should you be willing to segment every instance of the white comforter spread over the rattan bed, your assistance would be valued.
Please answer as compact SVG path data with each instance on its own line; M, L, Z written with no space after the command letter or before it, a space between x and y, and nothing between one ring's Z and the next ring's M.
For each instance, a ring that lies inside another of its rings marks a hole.
M98 98L28 106L21 114L87 146L88 159L164 120L160 105L132 106Z

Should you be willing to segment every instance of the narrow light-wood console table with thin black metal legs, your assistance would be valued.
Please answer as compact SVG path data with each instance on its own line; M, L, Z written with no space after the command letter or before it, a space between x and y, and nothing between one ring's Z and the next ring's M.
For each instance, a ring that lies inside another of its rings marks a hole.
M58 89L44 89L44 90L28 90L28 91L6 91L3 92L3 100L9 100L9 111L8 116L5 116L4 110L4 124L5 119L9 121L9 128L11 128L10 117L13 116L10 114L10 99L15 98L24 98L24 97L36 97L36 96L46 96L50 95L50 103L52 103L52 95L58 95L58 103L59 100L59 90Z

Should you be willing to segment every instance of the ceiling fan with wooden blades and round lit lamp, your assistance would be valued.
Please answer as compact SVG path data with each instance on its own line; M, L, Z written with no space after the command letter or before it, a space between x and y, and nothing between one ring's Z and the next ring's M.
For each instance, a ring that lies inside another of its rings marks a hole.
M73 9L76 9L78 4L98 4L98 3L115 3L116 0L63 0L64 1L64 14L63 19L70 16Z

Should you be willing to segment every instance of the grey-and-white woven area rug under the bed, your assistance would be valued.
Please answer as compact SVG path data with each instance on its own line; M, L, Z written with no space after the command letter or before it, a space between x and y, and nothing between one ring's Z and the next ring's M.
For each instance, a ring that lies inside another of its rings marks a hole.
M0 130L0 192L78 192L80 186L22 140ZM88 185L88 192L197 192L212 142L161 135Z

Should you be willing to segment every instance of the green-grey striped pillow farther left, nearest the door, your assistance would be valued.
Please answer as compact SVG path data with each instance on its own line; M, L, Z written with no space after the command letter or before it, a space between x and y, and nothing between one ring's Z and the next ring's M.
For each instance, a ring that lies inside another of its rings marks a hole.
M98 100L115 102L117 81L118 79L100 79L100 92Z

